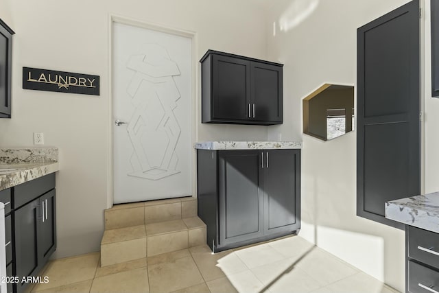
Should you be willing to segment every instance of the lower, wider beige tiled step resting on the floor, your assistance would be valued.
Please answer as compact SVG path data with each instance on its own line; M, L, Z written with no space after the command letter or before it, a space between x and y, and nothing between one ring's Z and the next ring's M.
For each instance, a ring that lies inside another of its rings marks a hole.
M101 266L205 243L206 225L198 217L106 230L101 242Z

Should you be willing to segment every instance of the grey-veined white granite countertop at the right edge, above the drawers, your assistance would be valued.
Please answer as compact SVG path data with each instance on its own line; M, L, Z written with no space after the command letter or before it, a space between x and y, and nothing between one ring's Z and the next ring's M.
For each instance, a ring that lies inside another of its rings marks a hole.
M385 218L439 233L439 192L385 202Z

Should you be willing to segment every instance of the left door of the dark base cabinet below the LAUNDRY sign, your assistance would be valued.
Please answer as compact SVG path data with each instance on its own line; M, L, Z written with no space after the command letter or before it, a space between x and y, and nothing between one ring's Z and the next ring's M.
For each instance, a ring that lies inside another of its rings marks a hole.
M38 272L38 222L42 211L40 200L25 204L14 213L15 233L15 270L20 281L23 277L34 276ZM16 292L22 292L26 283L16 283Z

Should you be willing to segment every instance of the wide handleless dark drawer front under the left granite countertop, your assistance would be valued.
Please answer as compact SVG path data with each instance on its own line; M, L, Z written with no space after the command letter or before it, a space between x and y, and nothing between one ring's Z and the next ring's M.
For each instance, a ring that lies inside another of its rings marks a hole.
M27 181L14 187L14 209L55 188L55 173Z

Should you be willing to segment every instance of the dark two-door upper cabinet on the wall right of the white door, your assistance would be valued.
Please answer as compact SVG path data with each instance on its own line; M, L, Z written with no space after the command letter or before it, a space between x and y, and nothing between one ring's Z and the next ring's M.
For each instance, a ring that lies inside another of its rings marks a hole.
M202 122L282 124L283 65L209 50L202 63Z

